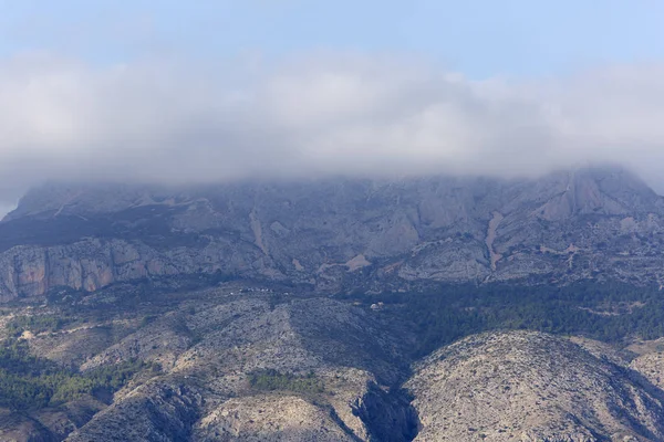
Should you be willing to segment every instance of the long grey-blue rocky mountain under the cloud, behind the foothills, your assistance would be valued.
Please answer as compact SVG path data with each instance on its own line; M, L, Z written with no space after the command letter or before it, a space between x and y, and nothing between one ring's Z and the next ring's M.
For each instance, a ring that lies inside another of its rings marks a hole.
M620 169L34 189L0 223L0 297L217 275L317 292L440 282L660 284L662 197Z

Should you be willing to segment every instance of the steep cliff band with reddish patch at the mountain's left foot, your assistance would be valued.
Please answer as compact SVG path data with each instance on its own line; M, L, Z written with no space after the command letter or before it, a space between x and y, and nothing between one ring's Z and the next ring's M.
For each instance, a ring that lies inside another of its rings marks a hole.
M240 248L241 249L241 248ZM176 248L158 251L141 241L83 239L72 244L20 245L0 254L0 296L41 296L50 290L94 292L112 283L146 277L191 275L199 272L241 270L239 260L257 257L252 250L240 252L229 243L210 242L205 249ZM227 259L228 256L228 259ZM262 264L255 263L257 274Z

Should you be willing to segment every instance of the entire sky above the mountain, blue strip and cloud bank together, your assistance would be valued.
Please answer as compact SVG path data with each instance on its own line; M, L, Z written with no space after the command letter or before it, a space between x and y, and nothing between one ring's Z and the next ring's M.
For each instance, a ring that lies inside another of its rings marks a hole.
M663 20L658 0L0 0L0 207L44 179L604 161L662 189Z

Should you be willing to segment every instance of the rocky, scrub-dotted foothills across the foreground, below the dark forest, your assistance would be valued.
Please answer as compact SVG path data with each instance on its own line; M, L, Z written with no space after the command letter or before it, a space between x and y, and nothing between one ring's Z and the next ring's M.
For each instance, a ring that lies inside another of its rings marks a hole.
M65 298L0 316L0 440L664 440L658 340L496 332L417 359L405 307L238 283Z

